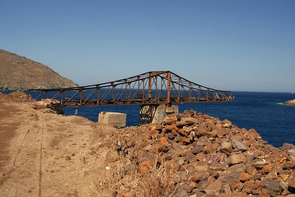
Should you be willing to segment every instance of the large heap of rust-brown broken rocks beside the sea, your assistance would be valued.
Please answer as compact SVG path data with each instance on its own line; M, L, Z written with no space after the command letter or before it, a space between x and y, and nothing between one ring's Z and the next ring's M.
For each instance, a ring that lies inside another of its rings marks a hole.
M180 197L295 196L295 146L275 148L229 120L184 111L107 139L126 164L137 158L140 176L157 155ZM118 196L128 195L118 190Z

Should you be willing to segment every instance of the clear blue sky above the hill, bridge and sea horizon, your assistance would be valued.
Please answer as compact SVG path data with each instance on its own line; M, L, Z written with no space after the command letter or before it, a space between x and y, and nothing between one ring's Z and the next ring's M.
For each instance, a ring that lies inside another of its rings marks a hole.
M295 91L294 0L1 0L0 49L80 85L171 70L198 84Z

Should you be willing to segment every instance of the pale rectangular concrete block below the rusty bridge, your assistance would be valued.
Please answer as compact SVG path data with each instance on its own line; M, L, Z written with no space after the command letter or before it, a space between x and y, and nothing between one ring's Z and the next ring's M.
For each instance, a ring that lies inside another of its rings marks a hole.
M125 113L101 112L98 114L98 122L112 126L124 127L126 126L126 116L127 114Z

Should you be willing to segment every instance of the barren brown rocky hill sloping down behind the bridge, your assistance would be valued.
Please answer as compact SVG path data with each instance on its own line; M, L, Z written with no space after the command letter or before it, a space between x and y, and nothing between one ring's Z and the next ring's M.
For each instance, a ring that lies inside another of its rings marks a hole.
M0 90L76 86L44 64L0 49Z

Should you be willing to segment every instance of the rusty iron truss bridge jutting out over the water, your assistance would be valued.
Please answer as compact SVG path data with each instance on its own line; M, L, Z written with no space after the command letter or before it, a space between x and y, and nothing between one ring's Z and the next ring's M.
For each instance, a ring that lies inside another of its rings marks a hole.
M151 71L126 79L71 88L28 89L34 98L56 99L64 107L231 102L231 91L217 90L186 80L171 71Z

